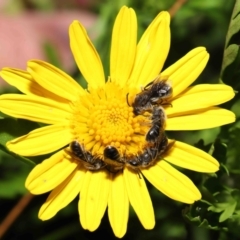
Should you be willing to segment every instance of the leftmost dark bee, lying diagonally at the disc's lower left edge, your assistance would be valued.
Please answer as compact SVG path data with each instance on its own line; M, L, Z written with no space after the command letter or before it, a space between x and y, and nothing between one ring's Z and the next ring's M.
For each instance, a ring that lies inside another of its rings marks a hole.
M74 157L80 160L86 169L97 171L106 167L106 163L101 158L95 157L86 151L78 141L71 142L70 149Z

